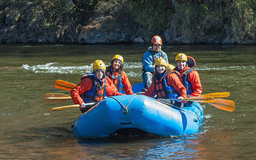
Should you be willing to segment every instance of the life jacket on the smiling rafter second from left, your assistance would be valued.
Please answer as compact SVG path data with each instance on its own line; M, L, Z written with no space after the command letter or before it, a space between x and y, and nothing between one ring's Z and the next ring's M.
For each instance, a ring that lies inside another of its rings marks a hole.
M124 85L122 84L122 74L123 74L123 71L115 75L113 74L112 69L106 72L106 76L108 76L109 79L111 79L111 81L115 84L116 89L118 90L119 93L122 93L122 90L124 88Z

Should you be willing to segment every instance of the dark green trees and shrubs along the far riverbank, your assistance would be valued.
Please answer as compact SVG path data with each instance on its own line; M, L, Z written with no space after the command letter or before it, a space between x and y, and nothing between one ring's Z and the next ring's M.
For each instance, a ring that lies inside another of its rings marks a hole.
M9 14L1 20L1 13ZM5 0L0 2L0 28L20 25L35 33L55 31L76 35L93 17L112 15L129 19L136 35L223 39L239 44L256 41L256 0ZM70 40L72 41L72 40Z

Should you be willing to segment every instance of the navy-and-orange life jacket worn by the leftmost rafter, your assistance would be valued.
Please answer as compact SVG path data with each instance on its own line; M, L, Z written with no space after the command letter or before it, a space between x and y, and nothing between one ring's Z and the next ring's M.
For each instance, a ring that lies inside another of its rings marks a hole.
M100 102L106 97L106 86L107 86L107 80L106 77L102 79L102 81L97 80L94 77L94 74L84 74L83 77L81 77L81 80L90 78L92 80L92 89L88 90L87 92L84 92L80 95L80 97L84 100L84 103L89 102Z

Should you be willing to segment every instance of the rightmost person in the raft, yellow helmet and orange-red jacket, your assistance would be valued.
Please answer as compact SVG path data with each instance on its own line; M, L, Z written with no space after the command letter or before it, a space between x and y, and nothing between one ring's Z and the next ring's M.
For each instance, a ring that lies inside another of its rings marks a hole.
M179 53L175 57L175 65L173 70L180 73L180 81L186 87L188 98L200 96L203 88L198 72L193 69L196 65L194 58Z

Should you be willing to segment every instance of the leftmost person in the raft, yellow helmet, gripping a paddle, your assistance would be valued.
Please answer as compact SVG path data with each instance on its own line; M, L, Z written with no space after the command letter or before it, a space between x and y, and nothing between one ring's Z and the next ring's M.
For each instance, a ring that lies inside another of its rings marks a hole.
M95 105L86 106L86 103L100 102L106 96L124 95L116 90L115 85L106 77L105 72L106 65L104 62L101 60L94 61L93 73L84 74L81 77L81 82L70 91L74 104L81 104L82 113Z

